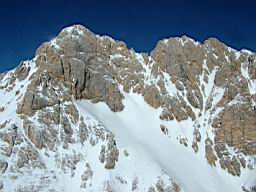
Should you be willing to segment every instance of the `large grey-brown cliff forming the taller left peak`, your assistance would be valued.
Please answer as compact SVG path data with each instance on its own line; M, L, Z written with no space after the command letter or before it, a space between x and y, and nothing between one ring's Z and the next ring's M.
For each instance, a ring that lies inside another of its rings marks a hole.
M107 66L106 53L112 51L112 42L99 42L88 30L81 27L77 30L59 34L56 39L59 49L43 44L37 50L37 66L62 80L75 99L102 101L113 111L122 110L123 96Z

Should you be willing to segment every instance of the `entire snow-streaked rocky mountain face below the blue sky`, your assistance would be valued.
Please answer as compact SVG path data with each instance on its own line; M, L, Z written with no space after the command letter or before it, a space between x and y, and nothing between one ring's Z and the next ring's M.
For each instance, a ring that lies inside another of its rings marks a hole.
M256 53L150 55L63 29L0 75L0 191L256 191Z

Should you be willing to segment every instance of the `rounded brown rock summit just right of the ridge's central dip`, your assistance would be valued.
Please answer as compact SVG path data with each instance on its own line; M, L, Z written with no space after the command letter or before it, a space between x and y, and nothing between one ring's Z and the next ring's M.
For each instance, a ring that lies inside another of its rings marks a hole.
M186 46L180 41L186 41ZM171 38L167 42L158 42L152 58L163 71L171 75L174 82L176 79L188 79L194 84L197 81L195 74L202 73L204 51L200 47L185 36L181 39Z

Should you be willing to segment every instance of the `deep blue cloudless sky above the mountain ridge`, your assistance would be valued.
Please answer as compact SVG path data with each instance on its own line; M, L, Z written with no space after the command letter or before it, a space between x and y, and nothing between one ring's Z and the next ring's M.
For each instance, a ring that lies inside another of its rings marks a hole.
M32 58L36 48L71 24L150 52L159 39L217 37L256 51L256 3L225 0L6 0L0 2L0 72Z

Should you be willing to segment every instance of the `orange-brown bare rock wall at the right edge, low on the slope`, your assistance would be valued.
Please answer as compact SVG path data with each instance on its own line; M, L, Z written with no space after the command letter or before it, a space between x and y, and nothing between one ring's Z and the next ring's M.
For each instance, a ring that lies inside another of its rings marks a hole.
M256 154L256 113L248 104L232 105L215 119L215 143L227 143L244 154ZM217 123L218 122L218 123Z

